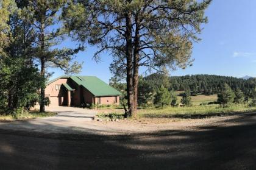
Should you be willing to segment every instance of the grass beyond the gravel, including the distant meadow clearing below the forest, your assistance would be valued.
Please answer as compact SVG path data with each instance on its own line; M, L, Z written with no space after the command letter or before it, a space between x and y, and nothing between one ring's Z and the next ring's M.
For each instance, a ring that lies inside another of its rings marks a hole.
M181 97L178 96L178 101ZM256 107L248 107L247 104L230 105L230 107L222 108L218 104L200 105L202 103L214 102L217 95L197 95L191 96L193 105L191 107L163 107L163 108L140 108L138 109L138 118L204 118L207 116L233 115L236 113L256 112ZM114 117L122 118L123 108L101 108L102 112L99 116L102 118Z

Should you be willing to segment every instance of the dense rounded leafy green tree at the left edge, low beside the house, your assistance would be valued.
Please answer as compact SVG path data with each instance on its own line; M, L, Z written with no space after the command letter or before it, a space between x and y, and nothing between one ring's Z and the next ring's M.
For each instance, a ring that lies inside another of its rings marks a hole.
M38 88L44 79L38 69L26 64L24 58L4 58L0 62L0 110L15 112L18 108L30 108L38 102ZM2 108L1 108L2 107Z

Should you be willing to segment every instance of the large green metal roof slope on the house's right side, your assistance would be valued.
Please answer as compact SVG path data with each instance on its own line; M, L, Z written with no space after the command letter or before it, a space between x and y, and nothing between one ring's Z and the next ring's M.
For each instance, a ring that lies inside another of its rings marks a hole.
M94 96L120 96L115 88L95 76L70 76L74 82L90 91Z

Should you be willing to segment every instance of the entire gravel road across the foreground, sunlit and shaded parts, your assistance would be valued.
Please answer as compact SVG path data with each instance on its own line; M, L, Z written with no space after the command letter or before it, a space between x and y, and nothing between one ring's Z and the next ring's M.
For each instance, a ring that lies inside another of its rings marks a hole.
M256 169L255 113L66 126L54 120L0 123L1 169Z

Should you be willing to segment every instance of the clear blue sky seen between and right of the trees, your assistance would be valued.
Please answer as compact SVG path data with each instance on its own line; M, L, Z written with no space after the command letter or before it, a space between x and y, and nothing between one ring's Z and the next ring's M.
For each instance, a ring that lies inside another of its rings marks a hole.
M199 38L193 44L193 66L170 71L171 76L187 74L216 74L221 76L256 77L256 1L255 0L213 0L205 11L208 23ZM62 46L75 46L75 42L66 40ZM77 61L84 62L80 75L97 76L108 83L113 76L109 66L112 57L101 55L101 62L93 60L96 46L87 46L77 54ZM60 69L54 71L51 79L63 75ZM140 74L144 74L141 70Z

